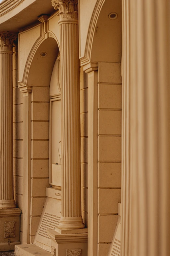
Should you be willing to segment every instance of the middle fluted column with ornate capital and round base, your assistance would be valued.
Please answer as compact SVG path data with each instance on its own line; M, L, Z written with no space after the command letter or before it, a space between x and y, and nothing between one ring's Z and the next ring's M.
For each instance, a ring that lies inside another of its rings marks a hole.
M52 0L60 14L62 217L58 228L84 228L80 187L78 0Z

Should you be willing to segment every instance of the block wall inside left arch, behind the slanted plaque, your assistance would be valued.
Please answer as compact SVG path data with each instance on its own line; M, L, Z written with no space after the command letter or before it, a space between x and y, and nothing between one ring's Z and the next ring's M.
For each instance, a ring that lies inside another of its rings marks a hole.
M31 94L31 209L30 242L33 243L49 187L49 85L33 86Z

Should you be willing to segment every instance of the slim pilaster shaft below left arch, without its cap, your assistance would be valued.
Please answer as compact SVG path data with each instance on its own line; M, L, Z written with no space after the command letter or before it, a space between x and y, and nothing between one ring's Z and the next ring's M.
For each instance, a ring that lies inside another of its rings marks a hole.
M29 243L31 168L31 93L23 95L23 244Z

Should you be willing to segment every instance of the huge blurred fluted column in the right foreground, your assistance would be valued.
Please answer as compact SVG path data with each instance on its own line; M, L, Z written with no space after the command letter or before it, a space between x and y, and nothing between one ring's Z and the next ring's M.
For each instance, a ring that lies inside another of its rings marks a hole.
M170 4L123 0L122 256L170 251Z

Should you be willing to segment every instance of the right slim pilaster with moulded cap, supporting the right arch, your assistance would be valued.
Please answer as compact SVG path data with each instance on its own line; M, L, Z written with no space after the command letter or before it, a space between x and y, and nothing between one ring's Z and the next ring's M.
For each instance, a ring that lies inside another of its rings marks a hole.
M83 67L88 73L88 255L97 255L98 233L98 83L97 63Z

